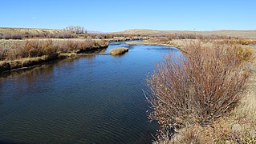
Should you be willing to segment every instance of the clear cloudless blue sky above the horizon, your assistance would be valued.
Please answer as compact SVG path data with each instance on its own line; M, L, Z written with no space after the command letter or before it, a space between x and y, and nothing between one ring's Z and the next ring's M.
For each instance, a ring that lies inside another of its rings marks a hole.
M256 0L2 0L0 27L256 30Z

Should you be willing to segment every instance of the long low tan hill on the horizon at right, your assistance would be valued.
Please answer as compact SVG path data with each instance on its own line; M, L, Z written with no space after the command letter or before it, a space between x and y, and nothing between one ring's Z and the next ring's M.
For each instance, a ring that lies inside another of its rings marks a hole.
M214 30L214 31L192 31L192 30L147 30L131 29L116 32L115 34L201 34L220 35L239 38L256 38L256 30Z

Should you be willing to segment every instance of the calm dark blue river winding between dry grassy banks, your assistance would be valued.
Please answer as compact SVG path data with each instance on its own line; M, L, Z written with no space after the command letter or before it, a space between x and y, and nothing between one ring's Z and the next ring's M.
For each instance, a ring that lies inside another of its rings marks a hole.
M0 143L150 143L158 128L149 122L142 90L146 74L168 54L167 46L111 42L105 53L0 75Z

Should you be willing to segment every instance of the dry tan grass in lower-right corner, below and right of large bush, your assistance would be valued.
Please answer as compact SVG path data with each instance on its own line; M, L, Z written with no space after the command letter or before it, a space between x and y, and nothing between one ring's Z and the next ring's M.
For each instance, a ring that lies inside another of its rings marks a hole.
M228 115L217 118L208 126L188 126L178 130L171 142L188 143L255 143L256 142L256 61L246 93L238 106Z

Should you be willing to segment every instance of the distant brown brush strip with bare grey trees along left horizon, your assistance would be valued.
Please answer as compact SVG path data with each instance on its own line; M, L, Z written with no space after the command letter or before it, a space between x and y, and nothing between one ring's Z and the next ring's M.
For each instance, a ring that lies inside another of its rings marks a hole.
M91 34L83 26L67 26L63 30L53 29L25 29L25 28L0 28L0 39L26 39L26 38L93 38L116 40L136 40L142 34Z

